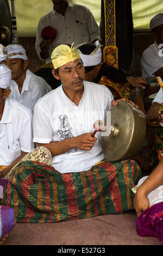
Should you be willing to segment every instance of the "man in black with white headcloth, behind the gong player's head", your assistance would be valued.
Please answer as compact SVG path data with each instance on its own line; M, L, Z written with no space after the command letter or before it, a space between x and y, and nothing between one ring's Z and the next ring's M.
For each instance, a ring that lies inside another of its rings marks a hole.
M145 89L142 83L146 83L143 77L131 77L122 69L116 69L106 63L102 63L101 45L98 41L94 44L84 43L77 46L80 50L80 58L85 68L85 80L98 83L102 76L107 76L113 82L129 82L133 87Z

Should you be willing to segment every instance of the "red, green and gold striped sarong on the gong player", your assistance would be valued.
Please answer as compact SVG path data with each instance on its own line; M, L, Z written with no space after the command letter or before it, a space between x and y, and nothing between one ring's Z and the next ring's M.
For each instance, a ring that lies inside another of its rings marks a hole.
M115 214L134 209L131 188L140 178L134 160L104 160L91 170L64 174L44 163L22 161L9 177L2 203L15 209L17 223Z

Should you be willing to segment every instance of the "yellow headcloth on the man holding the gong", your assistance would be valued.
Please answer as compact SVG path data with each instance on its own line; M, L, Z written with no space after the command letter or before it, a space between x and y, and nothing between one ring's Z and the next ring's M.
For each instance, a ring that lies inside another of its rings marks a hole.
M58 69L60 66L68 62L74 62L74 60L80 59L79 50L72 46L59 45L54 49L51 54L54 69Z

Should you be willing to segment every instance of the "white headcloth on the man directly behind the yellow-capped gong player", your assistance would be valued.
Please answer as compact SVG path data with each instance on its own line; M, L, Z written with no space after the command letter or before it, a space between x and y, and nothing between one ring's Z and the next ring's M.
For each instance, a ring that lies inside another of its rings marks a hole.
M79 48L80 46L86 44L85 42L81 45L78 45L77 48ZM82 59L83 65L84 66L96 66L99 63L102 62L102 51L101 51L101 44L99 43L99 41L97 40L93 45L96 46L95 50L93 50L93 52L91 52L91 54L87 55L87 54L83 54L80 50L79 50L79 54L80 54L80 58Z

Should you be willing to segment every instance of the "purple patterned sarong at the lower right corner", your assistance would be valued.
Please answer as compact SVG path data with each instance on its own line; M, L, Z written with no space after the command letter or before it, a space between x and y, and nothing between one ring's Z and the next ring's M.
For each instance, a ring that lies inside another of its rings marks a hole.
M136 231L140 236L156 236L163 245L163 202L143 211L136 220Z

